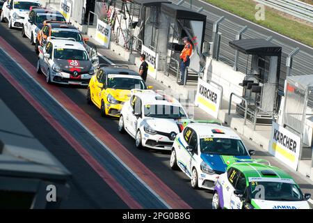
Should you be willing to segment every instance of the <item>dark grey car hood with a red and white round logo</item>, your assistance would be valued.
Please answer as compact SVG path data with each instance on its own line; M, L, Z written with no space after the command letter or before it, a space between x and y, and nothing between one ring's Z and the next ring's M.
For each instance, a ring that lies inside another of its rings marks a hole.
M88 73L92 67L91 61L54 59L54 63L56 63L56 65L59 66L63 72L74 74L76 71L79 75Z

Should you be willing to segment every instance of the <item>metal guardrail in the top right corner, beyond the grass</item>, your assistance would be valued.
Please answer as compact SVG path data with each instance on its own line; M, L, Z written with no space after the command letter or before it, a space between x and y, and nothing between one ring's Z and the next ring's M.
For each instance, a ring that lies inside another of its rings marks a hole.
M313 6L296 0L256 0L265 6L313 23Z

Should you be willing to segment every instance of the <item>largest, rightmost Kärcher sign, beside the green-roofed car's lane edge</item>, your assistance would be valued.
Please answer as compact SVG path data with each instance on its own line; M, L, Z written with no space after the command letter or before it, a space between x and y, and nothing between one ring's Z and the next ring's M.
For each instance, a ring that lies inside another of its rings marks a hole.
M297 170L301 139L296 134L273 122L269 152L279 160Z

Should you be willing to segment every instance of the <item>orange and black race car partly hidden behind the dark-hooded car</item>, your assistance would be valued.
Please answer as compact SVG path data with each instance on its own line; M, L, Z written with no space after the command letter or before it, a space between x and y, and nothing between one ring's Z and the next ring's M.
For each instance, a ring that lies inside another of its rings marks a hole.
M73 38L77 43L81 43L86 47L88 38L83 38L79 30L68 22L57 22L47 20L44 22L44 26L39 31L36 42L35 52L39 53L39 48L44 47L47 40L51 38Z

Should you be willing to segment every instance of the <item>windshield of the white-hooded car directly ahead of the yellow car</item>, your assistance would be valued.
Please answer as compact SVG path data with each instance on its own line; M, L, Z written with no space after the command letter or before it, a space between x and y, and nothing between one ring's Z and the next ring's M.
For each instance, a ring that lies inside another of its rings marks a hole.
M186 118L184 109L173 105L145 105L144 114L151 118Z

